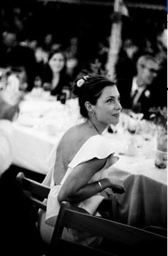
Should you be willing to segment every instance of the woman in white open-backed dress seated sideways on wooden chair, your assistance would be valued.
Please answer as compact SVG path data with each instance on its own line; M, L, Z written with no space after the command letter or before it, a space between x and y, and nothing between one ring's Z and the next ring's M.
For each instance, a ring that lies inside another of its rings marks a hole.
M41 236L46 242L51 240L53 225L64 200L100 216L97 208L102 200L112 192L125 191L121 180L108 175L108 168L118 158L112 143L102 136L109 124L116 125L120 119L122 107L115 83L102 76L85 76L75 84L74 93L85 122L63 135L56 153L55 170L43 181L52 187L47 212L39 215ZM98 237L83 237L72 230L65 230L63 235L84 245L100 242Z

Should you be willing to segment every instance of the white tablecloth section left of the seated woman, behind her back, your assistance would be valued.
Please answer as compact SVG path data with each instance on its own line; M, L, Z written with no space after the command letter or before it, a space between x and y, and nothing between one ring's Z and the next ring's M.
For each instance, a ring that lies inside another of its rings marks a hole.
M14 164L48 173L55 163L63 133L81 121L77 100L70 99L63 105L56 98L28 94L14 122Z

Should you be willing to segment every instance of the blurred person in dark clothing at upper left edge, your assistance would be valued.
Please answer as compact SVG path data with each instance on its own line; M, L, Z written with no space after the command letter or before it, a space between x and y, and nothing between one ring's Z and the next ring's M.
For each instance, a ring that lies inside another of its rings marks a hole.
M34 52L26 44L19 43L16 32L13 30L4 31L0 48L0 66L25 71L27 91L33 88L35 78L36 59Z

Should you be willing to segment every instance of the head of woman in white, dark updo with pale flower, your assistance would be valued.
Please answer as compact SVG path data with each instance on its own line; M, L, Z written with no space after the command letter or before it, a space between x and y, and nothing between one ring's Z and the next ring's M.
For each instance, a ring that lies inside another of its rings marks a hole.
M74 86L80 114L103 131L120 120L120 93L115 83L104 76L84 76Z

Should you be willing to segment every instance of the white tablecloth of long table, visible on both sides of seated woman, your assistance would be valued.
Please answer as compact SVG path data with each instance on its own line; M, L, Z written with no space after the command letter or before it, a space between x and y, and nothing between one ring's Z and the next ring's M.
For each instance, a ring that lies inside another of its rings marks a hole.
M21 167L48 173L56 160L56 148L65 130L80 123L78 102L70 100L64 106L56 99L27 98L21 105L14 123L15 159ZM138 147L134 156L127 150L130 135L104 133L114 143L120 160L112 166L114 178L124 181L126 192L115 196L116 220L143 227L167 227L167 169L154 165L154 140L136 138Z

